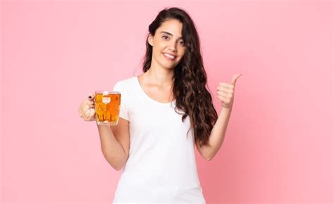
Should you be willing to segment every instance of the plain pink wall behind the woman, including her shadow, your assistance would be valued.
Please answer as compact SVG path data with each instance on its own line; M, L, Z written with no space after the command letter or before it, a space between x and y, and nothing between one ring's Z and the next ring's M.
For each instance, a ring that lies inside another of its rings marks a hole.
M1 203L111 203L120 172L78 106L140 75L149 23L190 13L214 104L242 73L207 203L333 202L333 2L2 1Z

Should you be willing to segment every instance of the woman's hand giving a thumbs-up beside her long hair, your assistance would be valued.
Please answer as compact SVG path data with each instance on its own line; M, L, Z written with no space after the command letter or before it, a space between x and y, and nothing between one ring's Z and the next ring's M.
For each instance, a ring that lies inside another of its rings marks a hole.
M221 82L218 84L217 97L219 100L221 100L223 108L232 109L235 82L237 82L237 78L239 77L241 77L241 74L234 75L232 78L232 83L230 84L225 82Z

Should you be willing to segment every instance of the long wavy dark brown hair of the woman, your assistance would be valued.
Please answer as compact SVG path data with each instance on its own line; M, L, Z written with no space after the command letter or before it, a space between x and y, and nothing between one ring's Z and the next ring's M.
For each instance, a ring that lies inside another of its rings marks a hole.
M183 110L183 122L185 117L190 116L190 122L194 128L194 139L199 141L199 146L209 146L211 130L218 119L218 115L212 103L211 94L206 89L207 77L200 51L199 35L192 18L183 9L164 8L149 25L149 34L154 36L156 30L164 21L172 19L179 20L183 24L182 36L185 43L185 56L174 68L173 94L176 101L175 108ZM147 34L147 39L149 34ZM151 60L152 46L147 40L143 72L149 70Z

